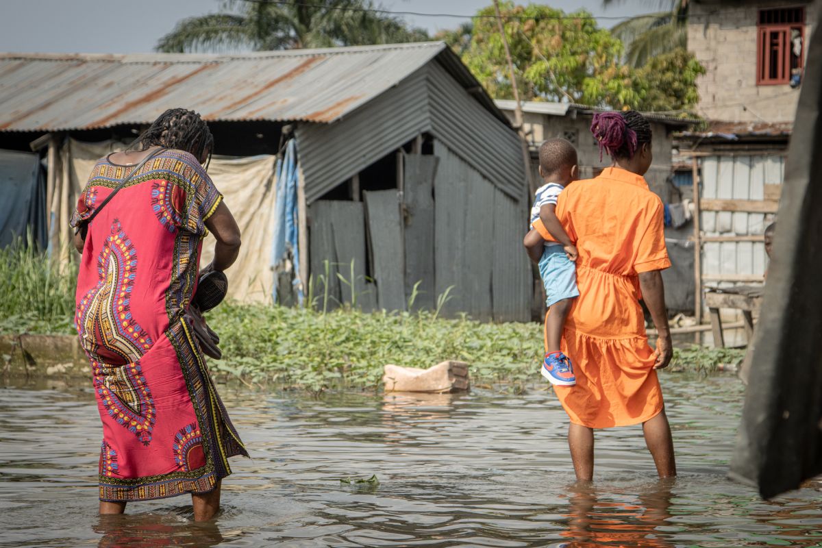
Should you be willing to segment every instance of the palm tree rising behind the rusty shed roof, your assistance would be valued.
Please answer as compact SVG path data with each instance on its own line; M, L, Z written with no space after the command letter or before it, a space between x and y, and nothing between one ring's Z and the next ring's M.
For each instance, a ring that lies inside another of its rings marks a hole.
M372 0L224 0L223 11L179 21L159 39L166 53L330 48L427 40L424 29L374 12Z

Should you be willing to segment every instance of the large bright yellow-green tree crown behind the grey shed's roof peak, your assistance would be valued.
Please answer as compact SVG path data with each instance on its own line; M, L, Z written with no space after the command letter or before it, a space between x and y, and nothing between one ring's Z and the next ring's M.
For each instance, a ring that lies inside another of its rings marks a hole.
M501 3L520 97L570 100L595 106L634 105L641 90L635 75L621 65L622 43L598 28L584 10L570 13L538 4ZM463 61L497 99L512 99L505 49L493 7L474 18Z

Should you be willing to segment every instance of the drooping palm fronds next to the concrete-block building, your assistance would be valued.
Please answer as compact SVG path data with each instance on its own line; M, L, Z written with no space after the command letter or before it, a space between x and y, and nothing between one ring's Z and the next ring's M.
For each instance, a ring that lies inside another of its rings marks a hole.
M621 0L603 0L609 6ZM642 67L650 58L688 47L688 0L660 0L667 12L631 17L614 25L611 32L626 46L626 62Z

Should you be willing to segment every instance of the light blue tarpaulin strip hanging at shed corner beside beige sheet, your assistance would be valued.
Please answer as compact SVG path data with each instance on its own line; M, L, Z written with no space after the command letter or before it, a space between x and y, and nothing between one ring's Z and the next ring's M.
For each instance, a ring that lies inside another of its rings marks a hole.
M277 196L274 216L274 243L271 246L271 266L276 267L290 250L293 254L294 287L298 302L302 305L302 273L299 271L297 185L297 141L289 140L285 151L277 159ZM274 302L277 302L277 284L273 285Z

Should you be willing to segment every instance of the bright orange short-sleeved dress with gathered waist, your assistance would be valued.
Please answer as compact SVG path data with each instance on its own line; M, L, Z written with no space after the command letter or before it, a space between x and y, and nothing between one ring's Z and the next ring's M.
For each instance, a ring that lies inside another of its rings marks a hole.
M562 191L556 215L576 242L578 297L563 352L575 386L555 386L570 420L591 428L638 424L663 409L645 334L638 274L671 265L663 204L635 173L607 168ZM535 223L543 236L541 223Z

